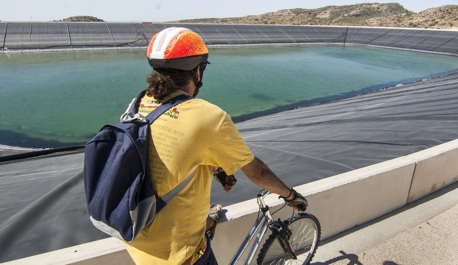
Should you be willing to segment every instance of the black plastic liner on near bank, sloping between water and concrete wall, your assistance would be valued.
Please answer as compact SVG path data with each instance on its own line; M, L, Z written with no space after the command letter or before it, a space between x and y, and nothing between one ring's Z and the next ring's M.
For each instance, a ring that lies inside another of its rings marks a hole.
M458 138L458 73L237 123L289 186L405 156ZM0 163L0 262L107 238L89 221L83 153ZM212 183L212 203L252 199L260 187ZM253 220L254 222L254 220Z

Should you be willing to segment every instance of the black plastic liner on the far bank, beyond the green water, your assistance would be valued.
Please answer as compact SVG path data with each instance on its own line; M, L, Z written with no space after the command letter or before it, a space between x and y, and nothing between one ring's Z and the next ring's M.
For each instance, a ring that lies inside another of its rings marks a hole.
M146 48L167 27L187 27L207 44L341 43L458 54L458 31L304 25L0 22L0 53Z

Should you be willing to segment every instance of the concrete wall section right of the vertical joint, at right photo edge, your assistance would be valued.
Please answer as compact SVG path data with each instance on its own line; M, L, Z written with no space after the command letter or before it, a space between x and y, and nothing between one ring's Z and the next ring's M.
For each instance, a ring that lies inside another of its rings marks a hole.
M409 155L417 163L407 203L458 181L458 140Z

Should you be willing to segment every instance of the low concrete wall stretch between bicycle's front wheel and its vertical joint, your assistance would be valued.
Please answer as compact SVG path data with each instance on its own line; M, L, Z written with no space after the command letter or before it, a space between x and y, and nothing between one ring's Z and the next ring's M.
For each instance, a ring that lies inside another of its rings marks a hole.
M312 189L308 211L320 220L325 239L404 206L414 168L413 159L399 157L297 189Z

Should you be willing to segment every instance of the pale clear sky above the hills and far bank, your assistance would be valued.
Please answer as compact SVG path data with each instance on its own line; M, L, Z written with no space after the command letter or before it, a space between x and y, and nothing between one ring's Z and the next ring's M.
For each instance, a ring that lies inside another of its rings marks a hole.
M370 1L367 1L370 2ZM396 2L379 1L379 3ZM456 0L399 0L410 11L457 4ZM455 2L455 3L454 3ZM355 0L0 0L1 21L52 21L69 16L96 16L104 21L164 22L190 18L259 15L289 8L364 3Z

